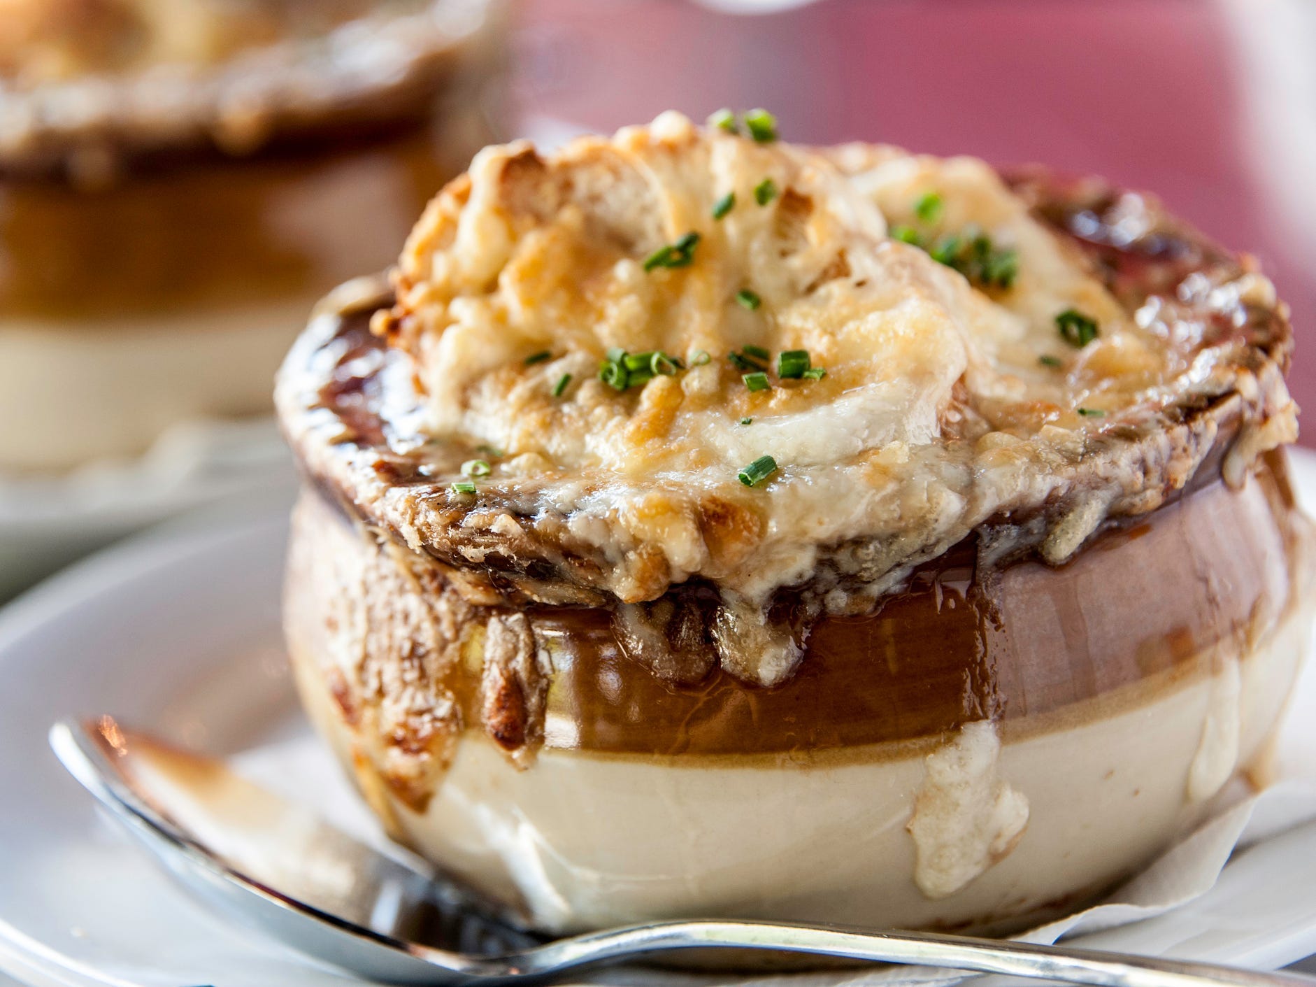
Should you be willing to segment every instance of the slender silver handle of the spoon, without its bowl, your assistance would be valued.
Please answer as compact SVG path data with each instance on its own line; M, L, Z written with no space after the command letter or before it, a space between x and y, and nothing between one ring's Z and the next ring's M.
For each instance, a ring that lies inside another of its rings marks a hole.
M521 955L517 973L555 973L587 963L686 949L753 949L809 953L883 963L949 967L1101 987L1313 987L1291 974L1255 973L1211 963L1136 957L1063 946L917 932L862 932L749 921L671 921L578 936Z

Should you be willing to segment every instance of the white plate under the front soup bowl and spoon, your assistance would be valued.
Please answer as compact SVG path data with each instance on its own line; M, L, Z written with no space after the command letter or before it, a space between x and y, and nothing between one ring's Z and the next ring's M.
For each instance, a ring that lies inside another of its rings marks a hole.
M1295 459L1316 503L1316 455ZM354 982L193 904L46 746L55 719L100 712L217 753L303 732L279 649L286 513L230 509L158 530L0 615L0 971L61 986ZM1299 717L1316 716L1312 672ZM1073 942L1255 967L1309 955L1316 825L1236 854L1190 905Z

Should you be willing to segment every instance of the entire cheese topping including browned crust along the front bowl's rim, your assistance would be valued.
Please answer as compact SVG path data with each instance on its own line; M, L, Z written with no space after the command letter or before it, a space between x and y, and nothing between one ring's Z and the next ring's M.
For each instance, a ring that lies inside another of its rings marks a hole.
M916 208L928 193L938 209ZM973 230L1016 253L1017 276L970 279L904 242ZM690 263L646 270L690 233ZM471 599L625 616L712 584L719 659L774 684L800 654L769 617L782 590L854 612L975 530L987 561L1059 562L1217 445L1241 482L1291 441L1269 282L1228 258L1187 270L1116 299L1117 279L979 161L759 143L667 113L553 155L487 149L430 203L375 315L386 450L324 404L350 291L290 355L279 405L311 470ZM1095 340L1065 340L1069 309ZM728 358L745 346L807 350L826 375L751 391ZM683 367L617 391L597 376L613 347ZM742 484L763 455L779 468ZM450 490L476 457L491 471L475 494Z

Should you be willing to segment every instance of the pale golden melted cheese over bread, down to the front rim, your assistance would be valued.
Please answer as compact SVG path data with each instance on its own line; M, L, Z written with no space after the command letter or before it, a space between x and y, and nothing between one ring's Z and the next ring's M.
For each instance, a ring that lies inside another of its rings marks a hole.
M778 195L761 205L765 179ZM915 212L928 192L934 222ZM1017 251L1019 275L984 290L891 237L896 224L929 240L980 229ZM644 270L688 232L688 266ZM392 338L415 358L425 433L504 450L487 483L533 483L572 537L605 546L624 600L697 574L763 601L811 576L817 546L859 538L851 571L882 592L898 562L1045 497L1088 436L1213 367L1130 318L980 161L755 143L675 113L550 158L484 150L413 230L396 288ZM1057 330L1070 308L1100 326L1080 349ZM808 350L826 376L751 392L726 359L745 345ZM619 393L596 379L609 347L688 368ZM700 351L712 359L696 366ZM746 490L737 471L765 454L779 471ZM1109 496L1094 492L1050 554L1082 542ZM736 515L732 532L711 530L711 504Z

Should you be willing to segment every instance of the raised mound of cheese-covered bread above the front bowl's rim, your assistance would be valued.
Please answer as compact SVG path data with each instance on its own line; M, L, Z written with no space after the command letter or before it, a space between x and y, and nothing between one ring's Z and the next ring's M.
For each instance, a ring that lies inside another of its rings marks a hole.
M705 134L676 114L550 161L526 145L484 151L403 257L430 434L533 453L546 468L720 487L762 454L787 470L866 471L882 450L900 458L963 432L966 396L998 420L987 426L1082 430L1078 407L1111 411L1162 379L1161 347L986 164L878 157L848 176L821 155ZM765 179L780 193L758 205ZM1019 250L1011 291L978 291L887 236L888 218L911 221L929 191L946 204L929 236L976 225ZM716 221L728 192L736 208ZM701 236L690 266L644 271L690 230ZM737 303L744 288L758 309ZM1067 308L1101 326L1080 353L1057 333ZM745 345L808 350L828 375L750 392L725 361ZM617 395L592 379L609 347L715 359ZM557 359L525 366L545 349ZM1040 365L1044 354L1070 372ZM566 372L579 384L558 400Z

